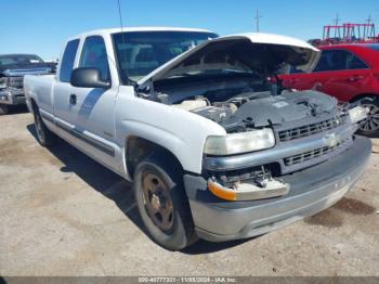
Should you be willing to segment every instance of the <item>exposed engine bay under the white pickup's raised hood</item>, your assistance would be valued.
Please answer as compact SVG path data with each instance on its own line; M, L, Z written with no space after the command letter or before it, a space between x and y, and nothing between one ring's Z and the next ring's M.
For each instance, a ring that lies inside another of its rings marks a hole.
M180 77L157 82L149 93L146 99L206 117L228 133L312 119L336 112L338 105L318 91L282 90L251 74Z

